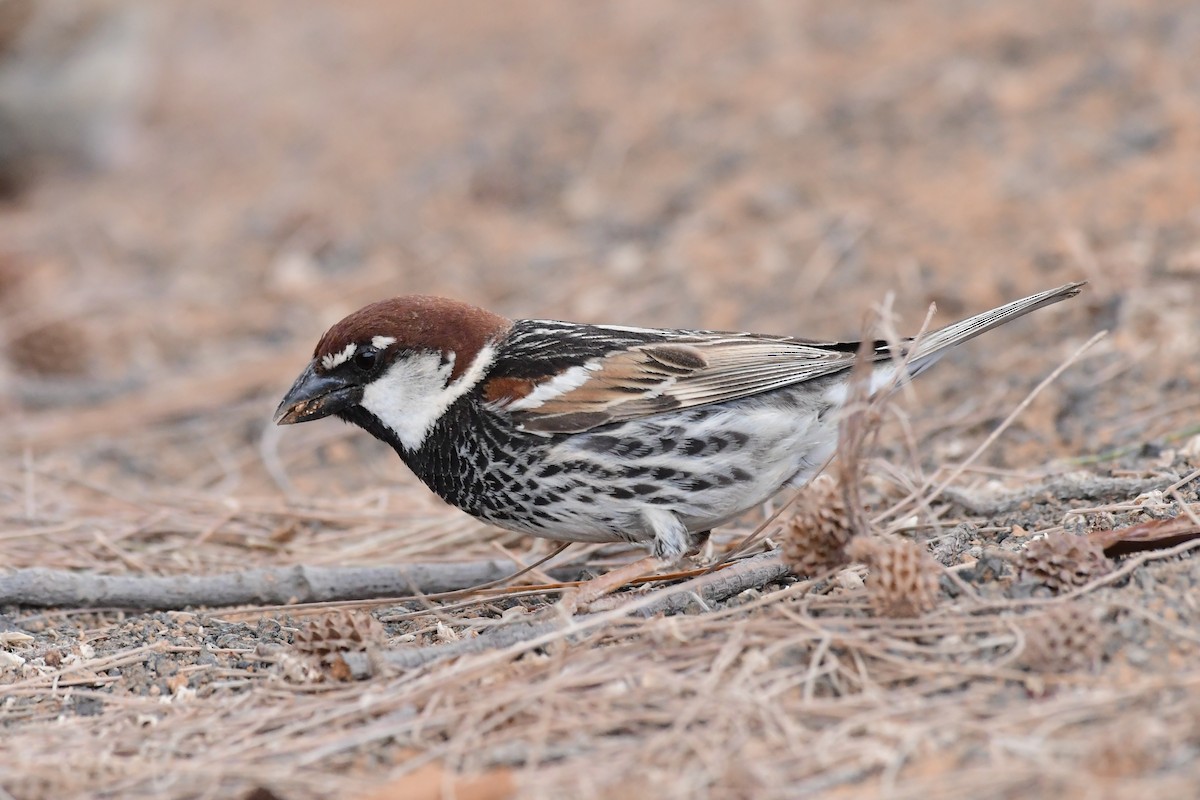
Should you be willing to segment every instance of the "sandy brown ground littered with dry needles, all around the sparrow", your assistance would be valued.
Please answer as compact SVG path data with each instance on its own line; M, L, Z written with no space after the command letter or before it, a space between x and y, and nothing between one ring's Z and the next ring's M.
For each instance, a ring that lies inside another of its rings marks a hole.
M0 70L29 70L6 8ZM324 327L382 296L856 338L888 297L907 333L930 302L940 324L1090 284L889 410L864 499L944 567L916 620L878 615L856 566L342 681L296 648L314 624L416 650L556 594L378 603L372 624L8 604L0 798L1196 793L1189 545L1057 594L1019 554L1196 511L1200 6L94 8L38 53L84 53L64 74L125 89L88 112L107 121L86 157L5 176L5 570L548 553L431 498L365 434L269 426ZM0 121L29 102L5 74ZM77 84L42 79L46 130L70 128L46 86L78 110Z

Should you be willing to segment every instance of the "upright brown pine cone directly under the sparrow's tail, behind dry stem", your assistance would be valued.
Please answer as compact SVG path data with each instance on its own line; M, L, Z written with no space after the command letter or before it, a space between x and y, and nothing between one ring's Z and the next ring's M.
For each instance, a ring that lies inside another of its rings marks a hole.
M853 536L841 485L818 475L796 499L796 512L780 534L784 563L799 576L814 576L850 563L846 542Z

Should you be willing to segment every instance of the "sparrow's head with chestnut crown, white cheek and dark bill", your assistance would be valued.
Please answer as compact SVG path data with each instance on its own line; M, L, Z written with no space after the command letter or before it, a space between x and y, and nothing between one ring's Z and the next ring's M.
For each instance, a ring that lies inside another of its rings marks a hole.
M403 450L484 378L512 323L455 300L407 295L330 327L275 413L278 425L338 416Z

